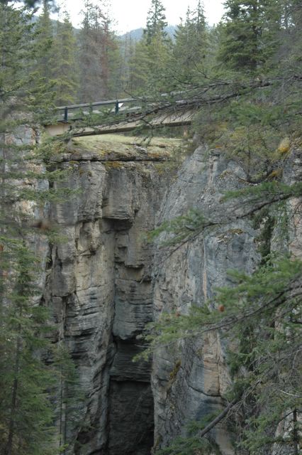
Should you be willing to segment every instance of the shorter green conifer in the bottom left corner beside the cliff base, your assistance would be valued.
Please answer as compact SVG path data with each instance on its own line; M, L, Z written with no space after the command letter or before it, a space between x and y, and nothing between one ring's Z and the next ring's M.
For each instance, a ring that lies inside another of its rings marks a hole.
M53 414L47 387L55 376L38 354L49 342L42 337L47 311L32 302L36 258L21 240L9 244L6 239L2 255L9 268L1 261L6 301L1 314L0 447L4 455L51 454Z

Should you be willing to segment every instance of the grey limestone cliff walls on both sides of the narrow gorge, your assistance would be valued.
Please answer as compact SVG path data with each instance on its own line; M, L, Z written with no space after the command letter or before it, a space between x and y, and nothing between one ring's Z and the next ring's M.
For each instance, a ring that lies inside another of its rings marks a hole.
M54 341L69 347L84 392L77 418L68 407L63 415L67 454L149 455L184 434L187 422L223 407L230 378L218 333L163 346L152 365L132 358L148 321L208 304L216 287L230 284L228 269L257 266L257 231L249 220L228 219L242 208L218 203L244 173L203 146L178 173L163 144L100 152L75 143L57 161L72 168L64 185L79 189L51 209L64 238L50 247L43 296L55 310ZM147 230L189 208L223 223L168 255L145 242ZM290 241L298 251L296 233ZM221 454L233 454L223 425L212 437Z

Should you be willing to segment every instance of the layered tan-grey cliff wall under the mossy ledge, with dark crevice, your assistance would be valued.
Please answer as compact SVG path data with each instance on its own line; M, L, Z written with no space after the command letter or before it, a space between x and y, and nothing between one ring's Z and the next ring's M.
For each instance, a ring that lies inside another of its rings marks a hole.
M62 416L69 454L147 455L153 444L150 363L132 359L142 350L136 336L152 319L144 234L155 225L167 178L137 158L86 154L60 164L73 168L63 185L77 193L52 208L62 240L50 252L44 298L55 308L54 341L67 344L84 394Z

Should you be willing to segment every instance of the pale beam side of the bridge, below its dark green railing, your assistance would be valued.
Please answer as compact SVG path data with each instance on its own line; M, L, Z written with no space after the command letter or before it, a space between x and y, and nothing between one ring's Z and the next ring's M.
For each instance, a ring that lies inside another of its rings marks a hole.
M153 117L150 122L146 119L126 119L113 124L100 125L96 127L76 127L75 122L57 122L47 125L46 131L50 136L60 136L71 132L72 136L90 136L92 134L123 133L137 129L138 127L180 127L189 125L194 116L193 111L173 112Z

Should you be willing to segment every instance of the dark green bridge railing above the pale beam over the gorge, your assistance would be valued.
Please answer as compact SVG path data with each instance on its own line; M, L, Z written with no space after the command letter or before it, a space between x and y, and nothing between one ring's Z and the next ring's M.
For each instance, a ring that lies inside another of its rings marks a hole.
M57 117L59 122L68 122L69 120L81 118L83 114L100 114L101 111L98 108L102 109L102 107L110 105L113 106L111 112L115 114L122 111L129 112L131 109L135 109L137 111L140 107L134 107L133 103L138 102L139 100L139 98L123 98L122 100L107 100L84 103L82 105L59 106L55 108L55 111L58 114Z

